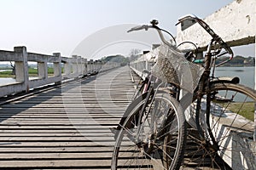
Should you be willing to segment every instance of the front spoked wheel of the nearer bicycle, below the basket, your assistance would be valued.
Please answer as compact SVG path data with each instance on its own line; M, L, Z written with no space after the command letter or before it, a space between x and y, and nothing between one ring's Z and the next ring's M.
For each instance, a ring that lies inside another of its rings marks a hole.
M119 130L112 169L178 169L185 144L183 111L168 94L139 102ZM151 106L150 106L151 105Z

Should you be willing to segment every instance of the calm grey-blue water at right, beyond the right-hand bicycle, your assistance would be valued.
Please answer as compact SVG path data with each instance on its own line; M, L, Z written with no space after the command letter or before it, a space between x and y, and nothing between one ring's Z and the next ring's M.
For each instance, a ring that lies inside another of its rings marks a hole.
M254 89L254 66L246 67L218 67L215 77L239 77L240 83Z

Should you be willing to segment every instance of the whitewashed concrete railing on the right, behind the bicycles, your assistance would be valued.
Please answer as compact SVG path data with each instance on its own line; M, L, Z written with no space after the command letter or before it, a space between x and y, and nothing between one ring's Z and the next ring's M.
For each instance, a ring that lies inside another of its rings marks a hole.
M255 0L236 0L224 8L220 8L214 14L209 15L205 21L209 26L211 26L212 30L215 31L218 36L222 37L231 47L255 43L255 8ZM211 37L198 24L188 28L184 28L181 25L177 26L177 44L185 41L195 42L195 44L197 44L203 51L206 49L207 43L210 39ZM144 54L136 61L131 62L131 69L137 72L137 75L139 76L142 76L143 70L150 71L151 66L157 59L157 52L158 48L154 49L149 54ZM234 169L240 168L237 166L238 164L241 164L240 166L244 167L244 169L248 169L248 165L253 165L253 168L256 168L256 105L254 113L254 142L251 139L247 139L247 137L241 136L239 133L235 132L233 132L230 137L229 145L235 147L234 150L239 148L239 150L248 150L247 153L252 153L249 155L242 155L242 153L237 155L237 153L233 153L233 151L227 152L226 154L228 156L224 157L224 161Z

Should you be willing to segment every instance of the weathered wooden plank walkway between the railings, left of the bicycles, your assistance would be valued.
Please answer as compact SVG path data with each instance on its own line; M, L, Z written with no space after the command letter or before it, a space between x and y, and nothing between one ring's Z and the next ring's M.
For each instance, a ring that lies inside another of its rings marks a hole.
M133 91L126 66L0 105L0 169L110 169Z

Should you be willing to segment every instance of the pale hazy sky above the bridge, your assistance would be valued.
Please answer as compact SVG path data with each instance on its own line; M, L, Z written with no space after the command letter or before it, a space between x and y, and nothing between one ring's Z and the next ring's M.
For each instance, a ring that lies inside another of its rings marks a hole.
M84 44L90 44L90 37L102 30L145 24L152 19L159 20L160 26L175 36L179 17L195 14L205 18L231 2L233 0L0 0L0 49L11 51L15 46L26 46L28 52L61 52L61 56L71 56L78 48L85 50L81 43L86 40ZM115 31L108 33L109 38L115 36ZM103 38L97 37L94 43L102 42ZM111 48L121 48L122 44ZM254 45L234 49L236 54L254 56Z

